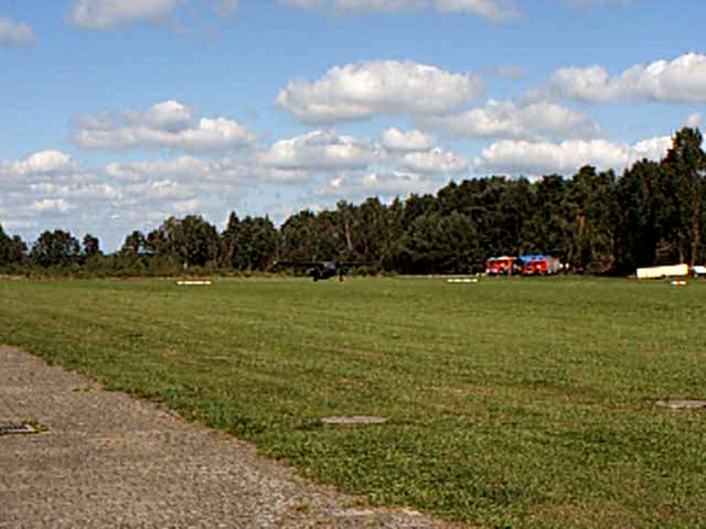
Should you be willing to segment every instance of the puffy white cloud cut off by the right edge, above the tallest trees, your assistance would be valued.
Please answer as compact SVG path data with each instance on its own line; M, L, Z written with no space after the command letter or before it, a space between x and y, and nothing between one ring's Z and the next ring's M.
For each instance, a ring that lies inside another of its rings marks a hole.
M567 67L552 77L553 90L584 101L642 99L706 101L706 55L688 53L673 61L634 65L617 76L605 66Z

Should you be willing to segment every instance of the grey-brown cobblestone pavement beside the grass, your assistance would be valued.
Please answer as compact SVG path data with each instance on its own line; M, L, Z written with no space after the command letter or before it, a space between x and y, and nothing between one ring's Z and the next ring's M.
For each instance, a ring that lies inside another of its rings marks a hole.
M0 346L0 528L445 527L314 486L246 443Z

